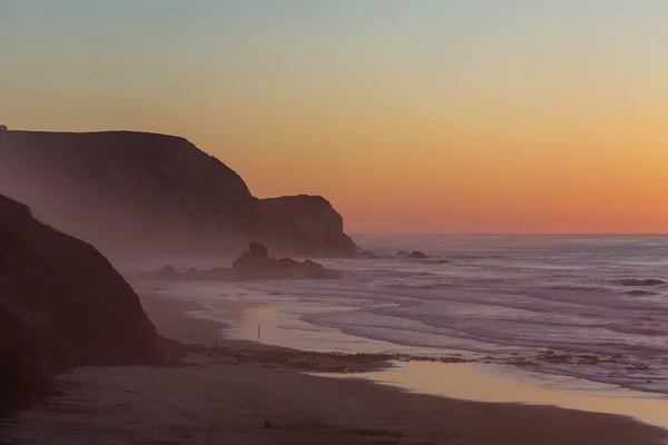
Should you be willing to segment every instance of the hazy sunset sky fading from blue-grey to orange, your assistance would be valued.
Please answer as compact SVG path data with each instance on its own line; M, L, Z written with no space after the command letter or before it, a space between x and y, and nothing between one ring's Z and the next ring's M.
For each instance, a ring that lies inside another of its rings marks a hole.
M184 136L352 233L668 233L668 1L0 0L0 123Z

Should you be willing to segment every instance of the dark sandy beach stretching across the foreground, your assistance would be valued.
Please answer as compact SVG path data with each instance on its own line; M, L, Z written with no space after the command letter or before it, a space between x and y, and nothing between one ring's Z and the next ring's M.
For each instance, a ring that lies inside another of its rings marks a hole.
M143 303L163 335L209 346L218 343L218 347L190 355L187 366L76 369L59 378L61 396L19 413L0 431L0 439L9 444L375 445L668 441L666 431L620 416L455 400L363 380L304 375L289 364L311 353L218 339L224 325L184 315L196 310L191 303L148 297ZM323 356L304 368L327 370L350 360ZM379 362L383 360L367 365L377 367Z

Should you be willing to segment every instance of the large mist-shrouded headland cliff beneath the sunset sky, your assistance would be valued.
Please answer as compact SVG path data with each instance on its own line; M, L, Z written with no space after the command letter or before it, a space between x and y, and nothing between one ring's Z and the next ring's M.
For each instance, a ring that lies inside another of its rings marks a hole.
M324 198L257 199L235 171L179 137L0 132L0 192L109 253L219 253L249 240L295 255L355 250Z

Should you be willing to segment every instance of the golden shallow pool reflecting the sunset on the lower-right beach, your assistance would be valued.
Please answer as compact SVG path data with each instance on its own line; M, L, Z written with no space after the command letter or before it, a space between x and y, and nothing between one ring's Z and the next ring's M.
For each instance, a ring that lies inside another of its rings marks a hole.
M667 397L582 379L520 373L500 365L429 362L396 365L387 370L348 376L411 392L468 400L553 405L619 414L668 428Z

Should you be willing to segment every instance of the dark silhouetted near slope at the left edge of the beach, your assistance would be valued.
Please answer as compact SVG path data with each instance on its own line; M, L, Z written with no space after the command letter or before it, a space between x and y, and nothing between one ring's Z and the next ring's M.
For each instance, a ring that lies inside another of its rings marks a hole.
M139 298L92 246L0 196L0 411L73 366L156 363Z

